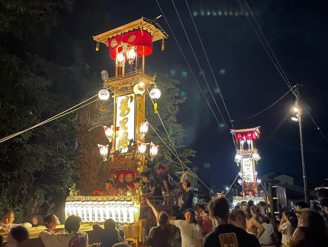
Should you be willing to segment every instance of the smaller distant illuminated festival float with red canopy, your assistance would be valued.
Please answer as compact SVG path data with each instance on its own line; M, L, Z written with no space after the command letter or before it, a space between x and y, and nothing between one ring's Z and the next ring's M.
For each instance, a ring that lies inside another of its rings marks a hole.
M238 202L248 201L250 198L255 202L265 201L263 192L258 192L258 186L261 184L261 179L257 177L255 165L261 159L254 146L256 139L260 137L260 126L250 129L231 129L230 133L236 140L236 155L235 162L240 167L238 172L238 184L241 186L242 196L235 196L233 205ZM240 165L240 166L239 166Z

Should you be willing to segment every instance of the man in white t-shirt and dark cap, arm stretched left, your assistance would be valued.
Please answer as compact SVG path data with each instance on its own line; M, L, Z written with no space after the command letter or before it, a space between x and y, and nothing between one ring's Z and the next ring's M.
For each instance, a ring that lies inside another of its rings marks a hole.
M203 243L203 229L195 220L195 211L188 208L184 211L186 220L169 219L169 224L175 225L181 232L181 247L200 247Z

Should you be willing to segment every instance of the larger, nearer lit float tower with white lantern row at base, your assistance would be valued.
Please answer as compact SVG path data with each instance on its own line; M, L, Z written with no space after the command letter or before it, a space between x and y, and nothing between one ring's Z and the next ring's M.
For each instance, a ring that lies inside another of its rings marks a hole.
M150 126L145 121L145 94L148 90L152 92L150 96L156 107L156 100L160 97L160 90L155 86L156 76L145 73L145 60L153 52L153 42L161 40L163 44L167 37L156 21L144 17L93 36L96 51L99 51L100 43L105 44L115 63L113 77L109 78L106 70L101 72L104 83L98 96L103 102L102 113L105 113L110 96L114 100L114 109L113 123L109 121L103 126L109 144L99 143L98 148L106 162L104 164L108 165L110 179L116 185L132 185L136 174L147 168L145 157L153 160L158 152L158 145L145 141ZM126 68L126 65L130 66ZM99 191L93 193L99 195ZM123 224L136 224L139 222L139 208L140 195L70 196L65 213L66 217L72 214L80 216L84 223L103 223L106 219L113 219Z

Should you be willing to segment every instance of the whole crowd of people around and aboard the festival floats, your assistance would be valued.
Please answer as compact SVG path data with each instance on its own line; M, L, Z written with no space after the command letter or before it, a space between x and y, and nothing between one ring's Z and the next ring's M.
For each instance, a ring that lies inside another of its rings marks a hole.
M179 210L175 218L171 219L164 212L158 212L156 205L149 200L151 196L165 197L173 194L176 184L162 164L156 164L152 174L146 169L133 180L134 187L127 185L115 186L113 181L106 181L106 192L103 195L116 193L117 195L134 195L139 193L140 180L143 181L145 191L143 200L149 205L145 212L149 218L153 214L154 224L149 227L145 240L153 247L209 247L209 246L270 246L270 247L303 247L324 246L327 243L328 233L328 189L318 190L320 208L311 208L305 202L298 202L291 211L282 212L280 220L272 221L268 217L267 205L260 201L257 205L253 200L242 201L231 209L229 202L221 198L213 198L208 204L193 205L194 194L190 189L191 183L186 180L188 172L182 174L180 183L183 188L179 201ZM251 198L250 198L251 199ZM140 213L141 216L141 213ZM27 228L31 223L14 224L15 213L12 210L4 212L0 222L0 233L9 233L6 246L16 247L29 238ZM64 229L57 229L60 224L58 217L48 214L43 218L46 227L39 237L45 247L87 247L89 237L86 232L80 231L81 218L69 216ZM125 247L125 235L120 223L113 219L106 219L104 227L93 224L93 233L98 236L100 243L93 247ZM0 235L1 236L1 235ZM3 241L0 237L0 246Z

